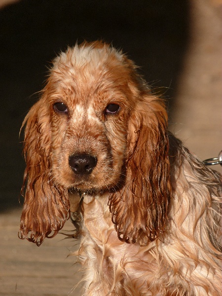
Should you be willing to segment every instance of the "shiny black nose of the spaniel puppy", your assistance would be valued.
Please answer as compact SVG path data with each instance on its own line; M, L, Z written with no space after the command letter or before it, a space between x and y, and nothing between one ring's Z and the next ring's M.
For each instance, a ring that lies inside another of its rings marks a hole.
M69 165L75 174L90 174L97 164L97 158L87 154L74 154L69 157Z

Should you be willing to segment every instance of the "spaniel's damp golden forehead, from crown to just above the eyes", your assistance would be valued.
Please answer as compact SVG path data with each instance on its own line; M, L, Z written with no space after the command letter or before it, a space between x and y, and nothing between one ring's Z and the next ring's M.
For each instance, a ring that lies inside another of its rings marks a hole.
M54 60L50 81L75 104L95 101L95 94L97 102L102 96L115 100L128 91L129 68L112 47L75 46Z

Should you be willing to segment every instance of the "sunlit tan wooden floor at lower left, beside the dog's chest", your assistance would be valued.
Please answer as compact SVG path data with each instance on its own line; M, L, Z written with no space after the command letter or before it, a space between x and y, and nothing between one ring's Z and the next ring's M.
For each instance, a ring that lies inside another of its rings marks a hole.
M78 296L80 265L74 239L57 234L40 247L18 238L21 211L0 215L0 296ZM70 221L64 229L72 230ZM69 256L69 257L67 257Z

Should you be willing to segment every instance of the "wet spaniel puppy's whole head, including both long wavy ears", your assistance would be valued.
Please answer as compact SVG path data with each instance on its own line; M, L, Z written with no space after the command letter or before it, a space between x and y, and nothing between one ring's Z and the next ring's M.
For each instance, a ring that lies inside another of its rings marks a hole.
M154 239L170 194L166 121L121 52L94 42L61 53L24 120L20 236L37 244L54 236L69 217L69 190L108 190L119 239Z

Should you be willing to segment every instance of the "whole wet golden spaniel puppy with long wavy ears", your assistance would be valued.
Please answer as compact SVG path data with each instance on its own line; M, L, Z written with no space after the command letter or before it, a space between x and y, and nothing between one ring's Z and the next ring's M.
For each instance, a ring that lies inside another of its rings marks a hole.
M61 53L25 124L19 236L40 245L75 212L84 295L221 295L221 176L122 52Z

